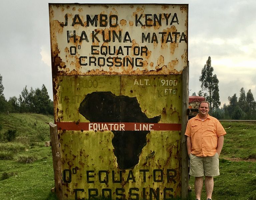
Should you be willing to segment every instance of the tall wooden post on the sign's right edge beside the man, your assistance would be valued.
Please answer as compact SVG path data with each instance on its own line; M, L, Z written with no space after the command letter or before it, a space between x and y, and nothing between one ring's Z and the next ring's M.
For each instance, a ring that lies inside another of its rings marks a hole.
M188 122L188 82L189 82L189 66L182 71L182 124L181 124L181 199L188 198L188 153L186 139L184 135Z

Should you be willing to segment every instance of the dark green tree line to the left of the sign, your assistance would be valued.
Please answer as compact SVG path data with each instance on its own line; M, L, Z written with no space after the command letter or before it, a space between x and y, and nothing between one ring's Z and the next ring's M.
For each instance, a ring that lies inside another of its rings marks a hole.
M35 90L27 86L23 88L21 94L10 97L6 100L3 94L4 86L0 74L0 113L40 113L53 115L53 101L50 99L48 91L43 84L41 89Z

